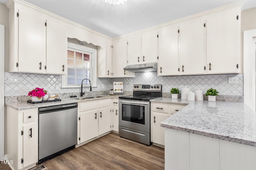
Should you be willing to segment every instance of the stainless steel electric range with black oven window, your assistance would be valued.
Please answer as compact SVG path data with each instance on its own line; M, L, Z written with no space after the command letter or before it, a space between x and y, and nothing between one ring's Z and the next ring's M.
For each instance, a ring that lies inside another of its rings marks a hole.
M134 84L119 97L119 136L150 145L150 100L162 97L162 84Z

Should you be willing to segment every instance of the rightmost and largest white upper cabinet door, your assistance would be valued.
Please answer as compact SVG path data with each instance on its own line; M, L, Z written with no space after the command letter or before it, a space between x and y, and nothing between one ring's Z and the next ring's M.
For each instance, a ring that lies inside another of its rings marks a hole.
M240 72L240 9L216 12L206 22L207 73Z

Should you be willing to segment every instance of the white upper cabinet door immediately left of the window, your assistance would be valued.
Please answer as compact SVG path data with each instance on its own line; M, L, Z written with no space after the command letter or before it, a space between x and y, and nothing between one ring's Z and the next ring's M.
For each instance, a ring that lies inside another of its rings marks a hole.
M46 73L67 74L66 27L61 20L47 16Z

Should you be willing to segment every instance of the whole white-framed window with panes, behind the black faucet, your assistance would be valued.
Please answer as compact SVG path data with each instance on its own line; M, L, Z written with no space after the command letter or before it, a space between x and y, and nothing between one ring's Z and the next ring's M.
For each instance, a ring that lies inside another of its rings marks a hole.
M62 76L62 88L80 87L84 78L96 86L96 56L96 49L68 43L68 74ZM84 80L83 84L89 86L90 82Z

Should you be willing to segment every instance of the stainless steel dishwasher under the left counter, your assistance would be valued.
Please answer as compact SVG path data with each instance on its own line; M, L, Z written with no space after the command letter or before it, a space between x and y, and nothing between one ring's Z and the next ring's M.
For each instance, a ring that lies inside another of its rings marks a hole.
M77 103L38 109L38 164L73 149L77 141Z

